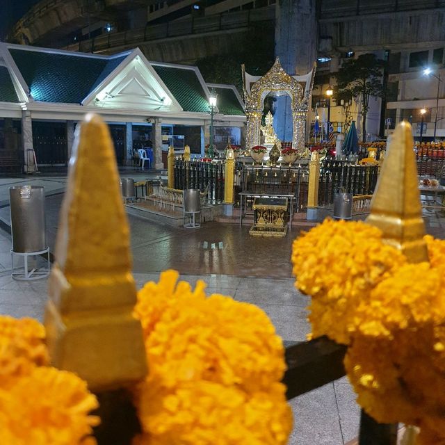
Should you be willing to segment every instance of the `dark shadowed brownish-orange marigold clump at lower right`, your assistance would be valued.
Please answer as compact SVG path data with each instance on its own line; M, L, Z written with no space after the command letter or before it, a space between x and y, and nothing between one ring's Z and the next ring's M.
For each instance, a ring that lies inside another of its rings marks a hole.
M443 438L445 353L434 345L445 327L418 323L392 333L392 339L355 334L345 368L357 402L381 423L416 425Z

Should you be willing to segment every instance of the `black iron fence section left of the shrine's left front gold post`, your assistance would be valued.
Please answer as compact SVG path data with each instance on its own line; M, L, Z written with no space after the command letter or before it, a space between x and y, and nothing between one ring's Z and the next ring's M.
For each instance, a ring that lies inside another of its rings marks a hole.
M224 202L224 175L223 163L175 159L174 188L195 188L202 193L207 192L206 200L209 204L221 204Z

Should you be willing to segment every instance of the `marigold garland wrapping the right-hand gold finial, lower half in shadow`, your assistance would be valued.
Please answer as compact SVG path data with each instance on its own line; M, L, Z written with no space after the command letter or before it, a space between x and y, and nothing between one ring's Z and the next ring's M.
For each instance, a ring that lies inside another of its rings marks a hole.
M429 263L407 259L364 223L325 220L293 243L296 286L312 295L314 336L348 346L345 368L364 410L445 444L445 241Z

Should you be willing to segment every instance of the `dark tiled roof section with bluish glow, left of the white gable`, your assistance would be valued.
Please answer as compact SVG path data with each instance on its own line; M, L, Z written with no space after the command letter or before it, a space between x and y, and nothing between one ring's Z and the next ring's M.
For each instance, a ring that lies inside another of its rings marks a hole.
M42 102L80 104L125 56L106 59L10 49L31 95Z

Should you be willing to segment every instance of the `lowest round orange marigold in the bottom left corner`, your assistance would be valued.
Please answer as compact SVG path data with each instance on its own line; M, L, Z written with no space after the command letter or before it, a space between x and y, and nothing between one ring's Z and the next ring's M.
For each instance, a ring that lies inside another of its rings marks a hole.
M3 445L94 445L95 396L73 373L35 368L8 391L0 389L0 443Z

